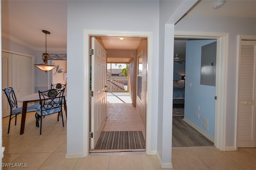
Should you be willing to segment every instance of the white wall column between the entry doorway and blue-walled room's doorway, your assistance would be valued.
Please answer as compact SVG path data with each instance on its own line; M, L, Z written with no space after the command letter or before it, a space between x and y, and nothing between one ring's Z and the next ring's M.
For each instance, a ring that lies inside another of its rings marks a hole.
M172 168L172 82L174 24L196 3L160 1L157 156L162 168Z

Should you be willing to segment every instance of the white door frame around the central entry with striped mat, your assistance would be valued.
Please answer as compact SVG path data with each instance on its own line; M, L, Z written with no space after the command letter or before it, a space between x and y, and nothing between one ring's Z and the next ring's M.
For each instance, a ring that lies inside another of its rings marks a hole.
M147 101L146 101L146 154L151 154L151 117L152 117L152 58L153 58L153 33L152 32L133 32L133 31L111 31L111 30L84 30L84 124L83 124L83 153L88 156L89 146L89 129L90 129L90 36L127 36L142 37L148 39L147 46ZM86 124L87 122L87 124Z

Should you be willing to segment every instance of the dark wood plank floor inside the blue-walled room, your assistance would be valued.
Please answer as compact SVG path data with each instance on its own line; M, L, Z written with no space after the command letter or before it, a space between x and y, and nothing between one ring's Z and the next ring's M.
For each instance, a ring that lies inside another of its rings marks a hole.
M172 147L214 146L213 142L188 125L183 118L172 117Z

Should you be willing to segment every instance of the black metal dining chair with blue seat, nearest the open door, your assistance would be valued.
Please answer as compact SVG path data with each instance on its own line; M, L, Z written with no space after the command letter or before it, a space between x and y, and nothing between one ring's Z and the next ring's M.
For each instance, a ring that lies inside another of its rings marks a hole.
M38 91L40 98L40 108L36 110L36 127L40 127L40 134L42 134L42 118L46 115L58 113L62 117L62 125L64 127L62 102L64 89L50 89L47 91ZM39 126L40 121L40 126Z

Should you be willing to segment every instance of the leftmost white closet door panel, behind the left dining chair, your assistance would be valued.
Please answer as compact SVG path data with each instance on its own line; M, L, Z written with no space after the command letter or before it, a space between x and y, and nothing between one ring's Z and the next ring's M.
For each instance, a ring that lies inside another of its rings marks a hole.
M12 54L2 52L2 89L12 86ZM7 97L2 91L2 117L10 115Z

